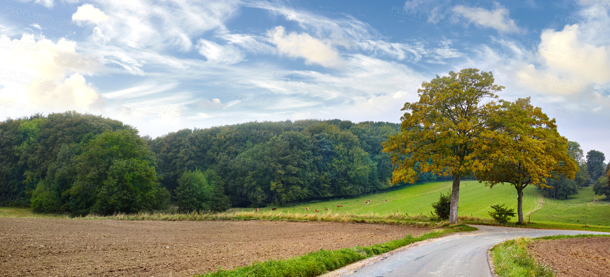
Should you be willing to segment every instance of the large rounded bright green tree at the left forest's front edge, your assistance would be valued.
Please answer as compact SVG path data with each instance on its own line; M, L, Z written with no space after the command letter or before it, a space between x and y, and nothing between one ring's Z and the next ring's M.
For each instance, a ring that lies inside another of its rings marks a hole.
M162 209L169 193L159 186L154 155L135 131L104 132L74 157L76 182L70 189L74 215Z

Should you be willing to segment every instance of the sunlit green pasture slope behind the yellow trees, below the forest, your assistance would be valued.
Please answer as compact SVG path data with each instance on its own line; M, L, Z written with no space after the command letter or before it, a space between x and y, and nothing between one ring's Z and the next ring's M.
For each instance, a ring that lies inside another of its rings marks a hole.
M293 207L278 207L279 212L312 213L315 209L320 212L332 212L340 214L376 214L387 215L407 213L409 215L430 214L432 202L439 199L440 193L451 190L449 182L430 182L415 184L392 192L365 195L348 200L325 201L319 203L299 204ZM526 188L523 210L529 212L536 208L539 195L534 188ZM370 200L369 204L364 204ZM387 202L384 202L386 201ZM343 207L337 207L337 204ZM509 207L517 206L517 190L512 185L497 185L492 189L476 181L462 181L459 196L459 215L489 218L487 212L490 206L495 204L506 204ZM305 210L309 207L310 210ZM329 210L325 210L328 208ZM270 208L261 209L267 210Z

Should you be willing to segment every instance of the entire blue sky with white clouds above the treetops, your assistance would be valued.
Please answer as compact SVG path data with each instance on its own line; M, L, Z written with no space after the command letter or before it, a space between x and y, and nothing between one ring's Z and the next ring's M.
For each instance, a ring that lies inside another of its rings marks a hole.
M610 158L610 1L7 1L0 112L152 137L264 120L400 120L436 74L493 71Z

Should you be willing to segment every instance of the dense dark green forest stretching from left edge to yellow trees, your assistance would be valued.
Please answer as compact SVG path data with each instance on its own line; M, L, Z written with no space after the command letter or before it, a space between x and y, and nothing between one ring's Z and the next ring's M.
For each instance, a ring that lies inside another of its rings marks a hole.
M224 210L373 193L391 186L381 143L398 129L372 121L255 121L151 139L91 114L9 118L0 122L0 204L85 215L164 209L170 201ZM423 174L420 182L436 179L449 178ZM207 204L188 204L201 191Z

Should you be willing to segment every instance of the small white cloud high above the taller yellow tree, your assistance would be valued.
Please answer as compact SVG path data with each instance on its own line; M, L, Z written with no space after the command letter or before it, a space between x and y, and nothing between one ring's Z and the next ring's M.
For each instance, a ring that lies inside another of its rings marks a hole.
M515 21L510 18L508 9L501 5L497 5L495 10L459 5L453 8L453 12L468 18L468 20L478 26L491 27L500 33L511 34L521 32Z

